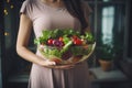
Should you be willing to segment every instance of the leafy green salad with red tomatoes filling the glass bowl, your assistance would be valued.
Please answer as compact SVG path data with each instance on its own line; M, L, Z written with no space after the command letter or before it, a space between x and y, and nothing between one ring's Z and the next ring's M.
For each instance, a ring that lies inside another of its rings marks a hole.
M72 64L91 52L95 38L90 32L80 34L73 29L56 29L43 31L34 43L47 59L56 64Z

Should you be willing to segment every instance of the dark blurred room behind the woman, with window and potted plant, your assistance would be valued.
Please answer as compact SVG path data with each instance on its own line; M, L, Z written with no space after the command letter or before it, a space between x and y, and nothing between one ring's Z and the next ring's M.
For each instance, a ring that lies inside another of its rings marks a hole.
M31 63L15 52L20 8L24 0L0 2L0 88L26 88ZM132 88L132 1L85 0L92 10L91 32L97 42L88 59L92 88ZM34 34L29 48L35 52ZM102 67L101 62L108 66Z

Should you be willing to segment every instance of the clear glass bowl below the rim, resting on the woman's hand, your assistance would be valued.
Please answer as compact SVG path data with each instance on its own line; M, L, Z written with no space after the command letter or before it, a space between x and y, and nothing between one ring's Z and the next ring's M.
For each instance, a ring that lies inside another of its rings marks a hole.
M88 59L89 56L94 53L95 47L96 42L86 46L72 46L63 54L61 53L61 47L58 48L54 46L40 45L38 51L41 52L42 56L44 56L46 59L56 63L55 66L47 67L57 68L57 66L74 65ZM78 50L79 52L77 52Z

